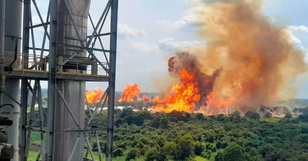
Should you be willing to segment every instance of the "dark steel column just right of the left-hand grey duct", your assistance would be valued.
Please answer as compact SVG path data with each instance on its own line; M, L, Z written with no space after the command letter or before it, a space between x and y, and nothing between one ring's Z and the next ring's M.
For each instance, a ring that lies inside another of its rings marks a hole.
M30 26L30 0L24 0L24 15L23 15L23 53L29 54L29 26ZM22 68L28 68L28 55L23 56ZM20 118L20 160L25 160L25 150L26 150L26 135L27 130L25 126L27 125L27 105L28 105L28 80L26 78L22 79L21 87L21 118Z

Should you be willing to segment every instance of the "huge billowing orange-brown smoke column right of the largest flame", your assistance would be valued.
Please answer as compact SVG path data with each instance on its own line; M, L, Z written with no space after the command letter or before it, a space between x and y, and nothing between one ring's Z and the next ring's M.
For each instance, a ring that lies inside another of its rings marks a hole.
M196 78L213 81L206 87L205 79L197 80L204 96L195 111L258 111L261 106L274 106L278 100L296 96L292 84L307 70L304 54L290 41L285 26L273 24L262 13L261 4L203 1L196 8L198 33L206 44L185 49L192 55L187 58L178 58L177 53L174 62Z

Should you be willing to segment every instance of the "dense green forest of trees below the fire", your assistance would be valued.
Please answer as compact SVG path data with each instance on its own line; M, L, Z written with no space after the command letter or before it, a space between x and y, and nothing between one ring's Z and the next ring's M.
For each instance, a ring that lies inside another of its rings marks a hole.
M95 120L105 125L106 116ZM308 160L308 115L265 117L115 110L114 160ZM100 136L105 152L105 132Z

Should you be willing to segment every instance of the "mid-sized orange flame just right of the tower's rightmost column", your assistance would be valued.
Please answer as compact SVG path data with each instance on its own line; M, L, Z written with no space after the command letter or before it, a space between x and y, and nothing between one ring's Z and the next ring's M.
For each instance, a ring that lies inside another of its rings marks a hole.
M138 84L125 85L125 89L122 92L121 98L118 99L118 102L134 102L134 100L140 98L140 89Z

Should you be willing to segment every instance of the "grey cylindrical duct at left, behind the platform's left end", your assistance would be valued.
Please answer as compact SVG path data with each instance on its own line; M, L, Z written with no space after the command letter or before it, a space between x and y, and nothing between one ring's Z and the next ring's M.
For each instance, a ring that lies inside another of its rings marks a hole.
M21 37L22 37L22 6L23 2L20 0L6 0L5 1L5 45L4 51L14 52L16 39L18 40L17 52L21 52ZM13 55L5 55L8 60ZM8 64L6 64L8 65ZM20 100L20 79L8 78L5 79L6 92L15 98ZM12 144L15 148L14 158L12 160L18 160L18 123L20 117L20 107L12 99L3 96L4 103L11 103L14 105L13 114L11 118L13 125L8 128L8 144ZM9 117L11 112L10 107L4 107L2 110L2 116Z

